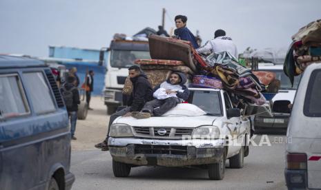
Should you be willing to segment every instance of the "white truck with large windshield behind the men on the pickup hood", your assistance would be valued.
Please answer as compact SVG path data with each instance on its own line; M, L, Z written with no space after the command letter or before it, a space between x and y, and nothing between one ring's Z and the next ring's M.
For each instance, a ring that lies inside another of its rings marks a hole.
M105 76L104 103L107 114L113 114L123 104L122 89L128 67L136 59L150 59L148 41L127 41L114 39L108 48L106 57L107 72Z

